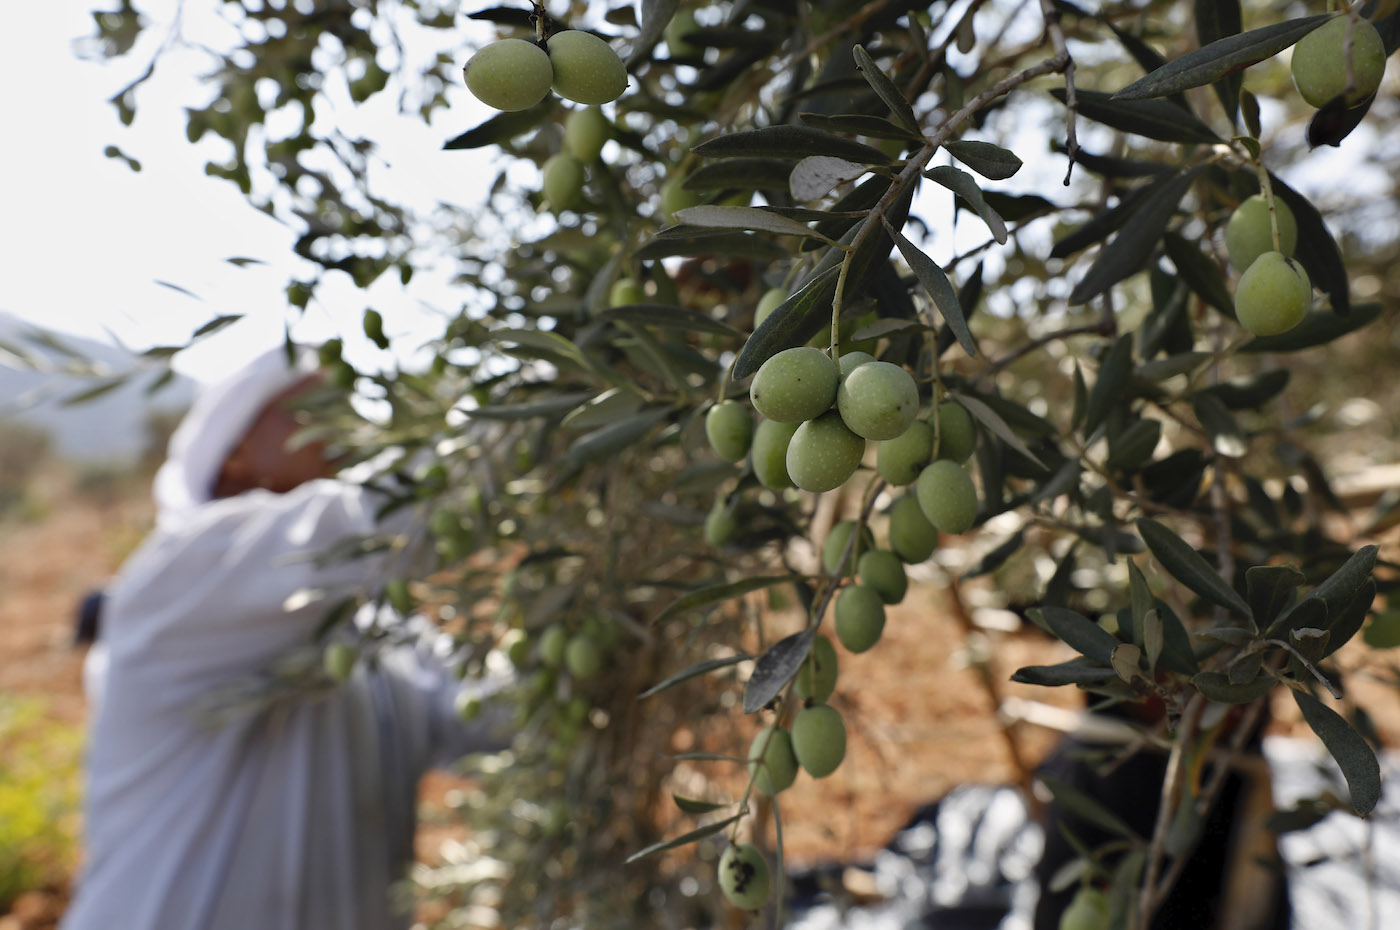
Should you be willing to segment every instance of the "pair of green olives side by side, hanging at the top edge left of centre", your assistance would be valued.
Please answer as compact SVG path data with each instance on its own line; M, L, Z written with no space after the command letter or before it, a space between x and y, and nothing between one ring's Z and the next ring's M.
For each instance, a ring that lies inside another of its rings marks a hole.
M496 109L528 109L553 90L575 104L608 104L627 90L627 67L592 32L564 29L542 43L497 39L470 57L466 87Z

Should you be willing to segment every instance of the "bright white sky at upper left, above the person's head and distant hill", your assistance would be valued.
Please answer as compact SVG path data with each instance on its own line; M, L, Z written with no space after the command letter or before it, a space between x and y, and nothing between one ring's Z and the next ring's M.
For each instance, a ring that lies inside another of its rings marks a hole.
M342 336L347 356L365 367L392 361L360 332L367 305L384 314L391 338L441 333L440 314L456 310L456 298L441 286L445 269L435 276L420 272L412 298L395 275L361 293L344 275L333 273L304 319L288 311L283 289L293 275L307 273L291 254L293 231L249 206L232 183L204 175L204 161L221 153L217 143L190 146L185 139L182 106L209 99L196 80L209 67L207 59L193 52L162 59L155 77L139 91L136 122L122 126L106 99L144 69L164 22L115 63L83 62L74 56L73 41L92 32L88 6L64 0L6 8L0 29L0 126L6 127L0 311L133 349L179 345L216 315L245 314L246 319L178 360L176 367L196 378L217 377L277 345L288 319L297 321L293 335L298 339ZM168 17L176 4L143 6ZM186 4L186 34L217 42L218 21L204 13L216 6ZM463 60L466 55L463 49ZM392 106L384 111L384 119L393 118ZM395 119L392 133L367 134L379 143L396 193L431 204L448 186L454 200L469 202L482 196L477 189L484 190L494 175L493 155L442 151L442 141L490 115L458 88L452 109L435 125ZM133 172L123 161L106 158L108 144L139 160L143 169ZM225 261L234 256L267 263L238 268ZM419 300L435 307L424 308ZM405 339L405 354L419 342Z

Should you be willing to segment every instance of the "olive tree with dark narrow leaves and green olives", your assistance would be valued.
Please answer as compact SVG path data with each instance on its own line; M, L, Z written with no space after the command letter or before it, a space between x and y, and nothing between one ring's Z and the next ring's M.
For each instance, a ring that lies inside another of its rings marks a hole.
M431 511L435 569L363 599L437 618L466 672L519 669L514 763L463 810L503 868L427 880L445 923L494 901L512 924L659 926L720 892L776 915L781 791L844 752L839 651L878 653L904 566L988 521L949 584L1040 553L1008 605L1078 653L1016 679L1162 707L1156 826L1084 849L1084 926L1147 926L1228 754L1186 766L1275 692L1372 810L1366 727L1324 696L1389 583L1375 545L1324 531L1337 500L1288 403L1295 360L1380 318L1282 176L1305 139L1347 144L1400 45L1393 3L1336 6L220 4L241 42L189 137L225 139L209 172L300 230L288 304L458 262L428 368L322 353L386 409L344 444L433 459L402 503ZM94 15L129 53L133 1ZM462 49L468 20L498 41ZM441 49L426 67L410 34ZM375 140L321 108L346 83L441 118L463 80L501 112L444 146L496 147L500 174L433 216L381 196ZM736 776L694 797L678 766Z

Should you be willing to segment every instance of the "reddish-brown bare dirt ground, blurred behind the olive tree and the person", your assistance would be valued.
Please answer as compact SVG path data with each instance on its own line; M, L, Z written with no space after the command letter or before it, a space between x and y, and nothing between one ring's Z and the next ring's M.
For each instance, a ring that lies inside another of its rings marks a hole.
M60 721L84 719L81 653L71 646L74 608L139 543L151 521L144 482L118 482L64 493L71 479L53 475L39 489L39 518L0 521L0 693L42 695ZM46 501L46 503L45 503ZM851 859L883 846L913 811L960 783L1014 783L1007 733L993 713L998 698L1022 698L1077 707L1072 689L1012 685L1011 672L1026 664L1068 658L1067 647L1033 633L984 629L965 634L965 612L931 584L911 587L889 611L885 636L864 655L841 653L841 690L834 703L851 734L847 759L820 782L799 779L784 794L785 849L791 861ZM981 619L976 611L972 616ZM990 625L995 627L995 623ZM965 643L981 643L993 657L983 675ZM1344 665L1372 661L1358 650ZM1372 710L1383 738L1400 744L1400 693L1392 685L1354 676L1355 692ZM1275 706L1275 727L1292 728L1292 702ZM1057 733L1021 724L1014 731L1021 761L1033 766L1054 745ZM449 776L426 779L424 804L441 808L461 783ZM451 828L433 826L419 836L420 857L431 861ZM46 930L55 926L63 888L22 896L0 930Z

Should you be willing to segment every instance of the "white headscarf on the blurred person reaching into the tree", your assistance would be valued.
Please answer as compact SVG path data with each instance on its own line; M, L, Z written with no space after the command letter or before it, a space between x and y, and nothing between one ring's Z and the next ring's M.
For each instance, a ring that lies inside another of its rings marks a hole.
M223 381L206 385L171 436L169 454L155 473L157 525L172 529L214 496L224 459L274 396L316 368L315 353L277 346Z

